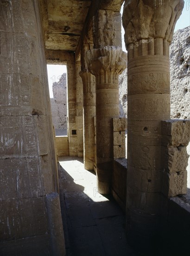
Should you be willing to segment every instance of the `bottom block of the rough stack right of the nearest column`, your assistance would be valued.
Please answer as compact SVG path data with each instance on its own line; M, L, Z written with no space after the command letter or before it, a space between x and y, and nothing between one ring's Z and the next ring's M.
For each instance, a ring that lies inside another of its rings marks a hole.
M187 171L163 173L162 192L167 197L187 193Z

